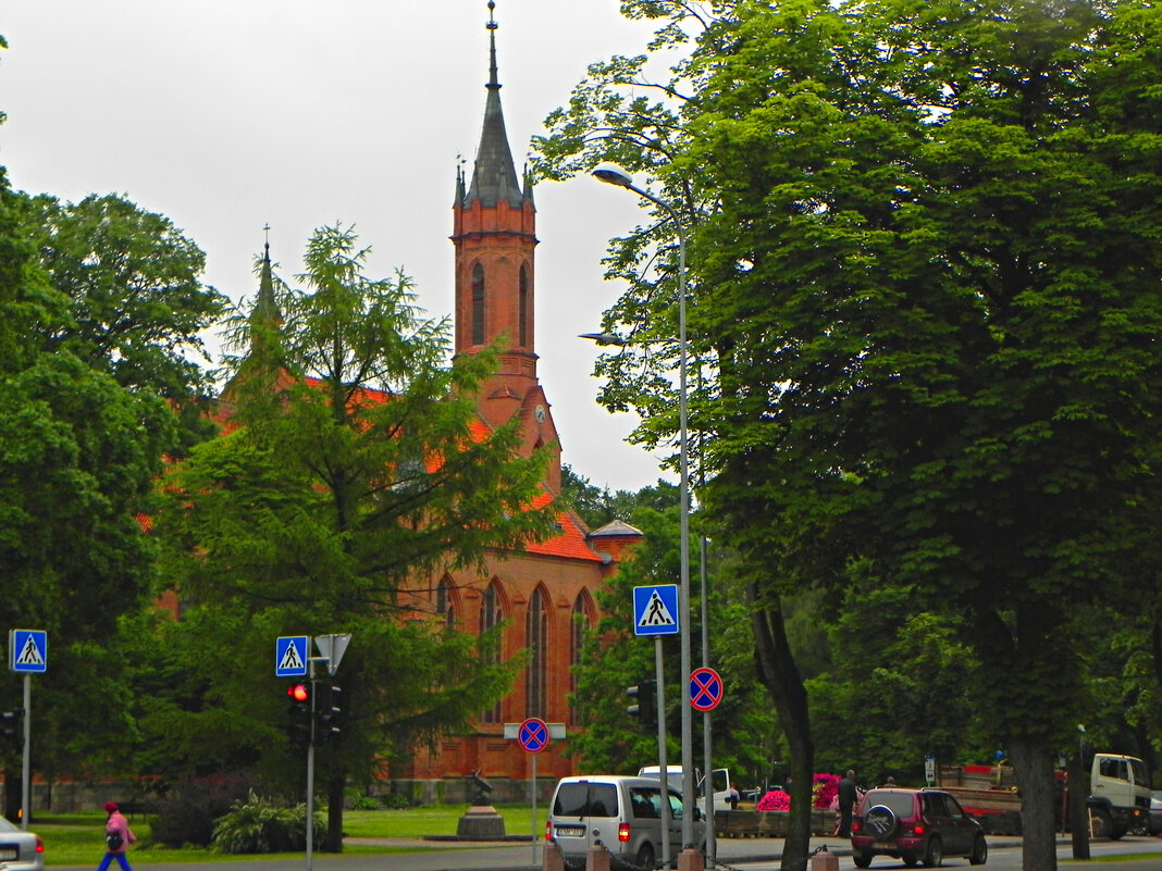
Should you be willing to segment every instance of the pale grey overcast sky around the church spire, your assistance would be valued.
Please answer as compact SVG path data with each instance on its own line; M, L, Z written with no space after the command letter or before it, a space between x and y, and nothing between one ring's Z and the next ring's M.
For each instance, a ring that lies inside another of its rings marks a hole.
M618 0L497 0L501 99L517 171L586 66L639 53L652 28ZM78 201L116 193L207 254L206 281L252 296L253 258L293 286L311 231L353 223L368 274L411 275L452 311L457 160L475 157L488 75L487 0L5 0L0 164L12 186ZM611 236L636 197L589 178L537 187L538 375L564 461L594 484L654 483L624 442L634 420L596 404ZM669 476L667 476L669 477Z

